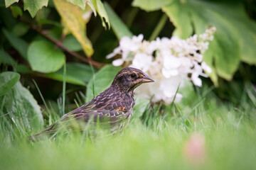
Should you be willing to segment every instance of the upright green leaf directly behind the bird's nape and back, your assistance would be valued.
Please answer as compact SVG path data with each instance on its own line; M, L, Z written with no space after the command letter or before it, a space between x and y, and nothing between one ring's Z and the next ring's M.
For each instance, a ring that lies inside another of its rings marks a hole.
M90 101L92 98L105 91L111 84L115 75L119 72L121 67L114 67L112 64L108 64L102 67L95 76L93 76L86 89L86 101Z

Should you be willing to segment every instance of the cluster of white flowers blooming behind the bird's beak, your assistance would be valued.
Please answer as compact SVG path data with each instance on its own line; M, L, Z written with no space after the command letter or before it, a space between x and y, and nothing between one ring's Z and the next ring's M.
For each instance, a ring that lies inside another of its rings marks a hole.
M206 33L193 35L187 40L174 36L149 42L143 40L143 35L123 37L119 47L107 58L121 55L122 58L112 62L114 66L124 64L142 69L154 79L154 83L138 87L135 91L137 95L166 104L174 101L176 96L175 102L178 102L182 98L181 94L176 94L178 86L183 86L186 80L202 86L199 76L208 77L204 72L211 72L210 67L203 62L202 54L208 49L208 40L213 40L215 30L215 27L211 27Z

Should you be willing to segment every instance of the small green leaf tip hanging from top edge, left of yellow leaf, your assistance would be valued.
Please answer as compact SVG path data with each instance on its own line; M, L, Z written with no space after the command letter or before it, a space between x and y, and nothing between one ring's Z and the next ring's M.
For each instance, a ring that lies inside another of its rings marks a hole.
M43 6L48 5L48 0L23 0L24 10L28 10L32 17L36 16L36 13Z

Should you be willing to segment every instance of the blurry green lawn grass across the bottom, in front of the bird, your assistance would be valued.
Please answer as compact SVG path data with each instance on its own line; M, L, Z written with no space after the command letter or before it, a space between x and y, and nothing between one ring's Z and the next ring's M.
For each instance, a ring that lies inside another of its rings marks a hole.
M122 135L97 139L68 133L31 142L30 132L6 124L2 115L1 169L256 169L255 91L245 89L240 105L234 106L211 90L184 91L183 101L173 107L135 111ZM51 121L58 118L52 114ZM204 150L202 160L197 154L186 156L195 134Z

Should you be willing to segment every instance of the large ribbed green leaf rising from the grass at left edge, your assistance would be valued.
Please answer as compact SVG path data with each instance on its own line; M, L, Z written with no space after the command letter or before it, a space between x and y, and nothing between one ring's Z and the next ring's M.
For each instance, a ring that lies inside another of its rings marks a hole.
M11 120L25 130L36 132L42 128L41 108L30 91L24 88L20 82L0 97L0 103L3 103L4 113L9 113L8 116ZM21 130L21 128L19 129Z

